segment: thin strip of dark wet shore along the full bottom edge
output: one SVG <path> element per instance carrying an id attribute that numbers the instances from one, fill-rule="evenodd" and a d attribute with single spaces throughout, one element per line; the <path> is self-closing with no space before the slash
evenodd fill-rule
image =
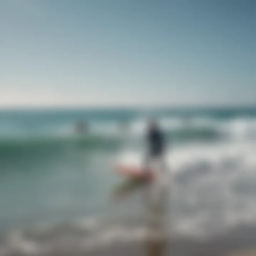
<path id="1" fill-rule="evenodd" d="M 49 251 L 21 251 L 14 249 L 1 256 L 252 256 L 256 255 L 256 225 L 239 225 L 223 235 L 208 239 L 179 237 L 173 239 L 144 238 L 135 241 L 109 242 L 94 248 L 52 247 Z M 28 244 L 29 246 L 29 244 Z M 81 244 L 80 244 L 81 246 Z M 27 247 L 28 248 L 28 247 Z"/>

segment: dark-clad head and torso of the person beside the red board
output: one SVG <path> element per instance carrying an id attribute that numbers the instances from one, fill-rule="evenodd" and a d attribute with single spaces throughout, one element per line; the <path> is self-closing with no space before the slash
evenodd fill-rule
<path id="1" fill-rule="evenodd" d="M 164 134 L 155 120 L 149 121 L 146 140 L 148 152 L 146 154 L 145 170 L 148 171 L 154 162 L 158 162 L 162 166 L 165 151 Z"/>

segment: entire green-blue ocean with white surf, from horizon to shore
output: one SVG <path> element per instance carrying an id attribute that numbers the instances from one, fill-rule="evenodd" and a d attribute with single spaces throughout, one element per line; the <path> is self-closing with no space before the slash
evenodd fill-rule
<path id="1" fill-rule="evenodd" d="M 0 255 L 143 239 L 147 190 L 123 195 L 114 164 L 142 164 L 148 117 L 167 141 L 172 237 L 255 224 L 256 107 L 1 110 Z"/>

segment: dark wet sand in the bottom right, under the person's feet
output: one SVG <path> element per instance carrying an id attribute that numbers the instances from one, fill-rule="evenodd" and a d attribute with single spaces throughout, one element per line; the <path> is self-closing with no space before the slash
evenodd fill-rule
<path id="1" fill-rule="evenodd" d="M 239 226 L 222 236 L 200 241 L 176 239 L 116 244 L 87 252 L 89 256 L 256 256 L 256 226 Z"/>

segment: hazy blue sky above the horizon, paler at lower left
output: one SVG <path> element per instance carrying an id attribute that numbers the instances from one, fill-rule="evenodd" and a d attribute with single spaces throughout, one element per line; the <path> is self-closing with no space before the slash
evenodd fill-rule
<path id="1" fill-rule="evenodd" d="M 0 0 L 0 106 L 252 105 L 254 0 Z"/>

